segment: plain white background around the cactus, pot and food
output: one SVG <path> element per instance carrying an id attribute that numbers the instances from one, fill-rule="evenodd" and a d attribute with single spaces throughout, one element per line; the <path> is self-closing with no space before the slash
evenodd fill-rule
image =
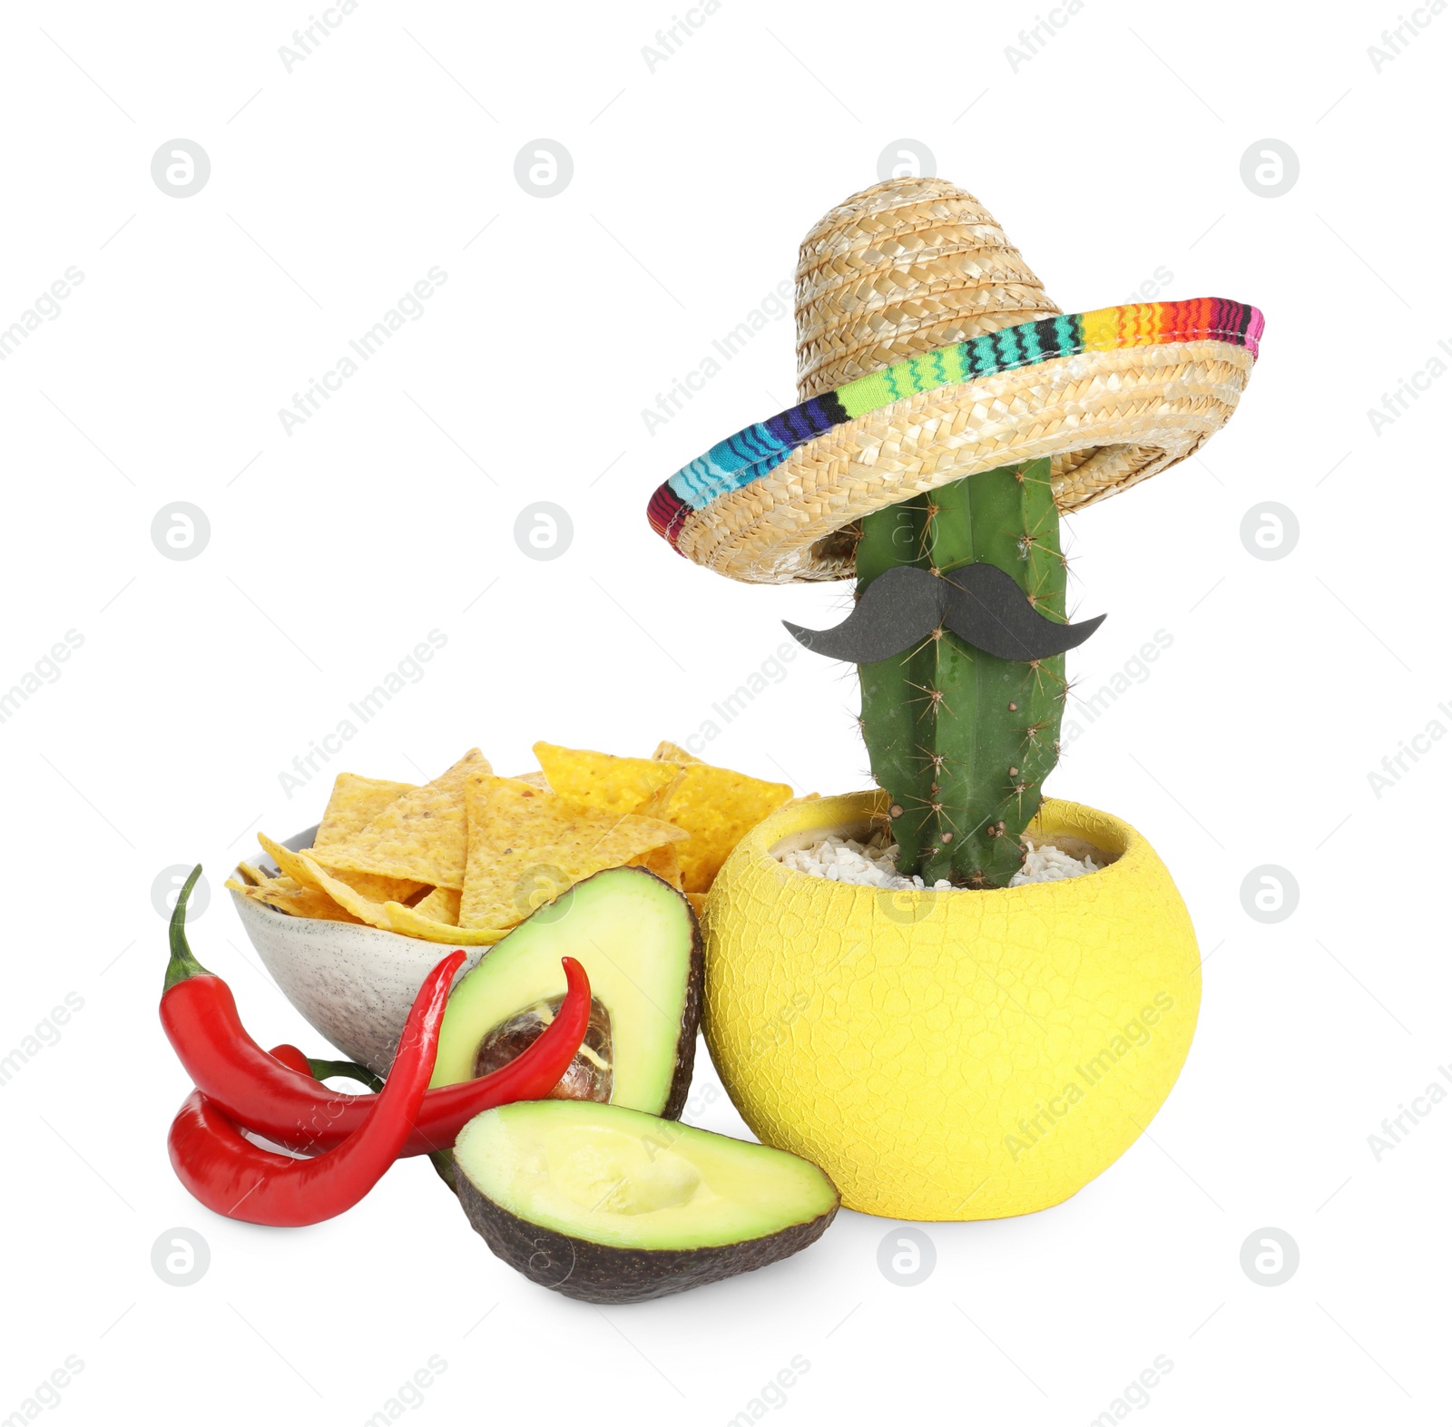
<path id="1" fill-rule="evenodd" d="M 0 1052 L 32 1048 L 0 1086 L 0 1418 L 76 1354 L 46 1420 L 363 1423 L 439 1354 L 408 1420 L 719 1424 L 800 1354 L 772 1420 L 1077 1424 L 1166 1354 L 1135 1418 L 1446 1420 L 1452 1105 L 1379 1161 L 1368 1135 L 1452 1063 L 1452 748 L 1379 798 L 1368 772 L 1452 727 L 1452 382 L 1379 434 L 1366 411 L 1452 341 L 1452 19 L 1416 12 L 1378 71 L 1391 4 L 1054 16 L 1015 70 L 1031 6 L 725 0 L 652 70 L 666 4 L 364 0 L 289 73 L 302 4 L 6 7 L 0 324 L 67 267 L 84 282 L 0 363 L 0 687 L 84 642 L 0 724 Z M 321 1052 L 221 883 L 256 829 L 314 822 L 344 765 L 418 781 L 478 743 L 514 772 L 537 737 L 648 753 L 714 719 L 713 761 L 864 785 L 826 661 L 711 711 L 781 618 L 828 623 L 847 586 L 723 581 L 643 517 L 677 466 L 791 402 L 790 315 L 653 434 L 642 409 L 903 136 L 1066 311 L 1165 269 L 1162 296 L 1266 314 L 1204 459 L 1067 523 L 1079 611 L 1109 613 L 1079 692 L 1172 636 L 1079 719 L 1050 785 L 1138 826 L 1199 932 L 1199 1034 L 1150 1132 L 1061 1208 L 929 1227 L 915 1288 L 877 1267 L 893 1225 L 844 1212 L 786 1264 L 595 1309 L 492 1259 L 418 1160 L 318 1228 L 209 1215 L 164 1148 L 187 1090 L 155 1018 L 164 868 L 206 864 L 193 944 L 248 1026 Z M 1268 136 L 1300 160 L 1275 199 L 1240 171 Z M 173 138 L 211 160 L 186 199 L 151 177 Z M 514 177 L 539 138 L 574 160 L 549 199 Z M 434 266 L 423 315 L 287 434 L 277 409 Z M 150 534 L 177 501 L 211 523 L 184 562 Z M 571 515 L 559 559 L 514 541 L 534 501 Z M 1265 501 L 1300 524 L 1279 560 L 1240 539 Z M 289 796 L 279 774 L 430 630 L 424 678 Z M 1265 864 L 1300 887 L 1276 925 L 1241 906 Z M 67 993 L 58 1039 L 26 1042 Z M 709 1063 L 691 1118 L 743 1132 Z M 189 1288 L 151 1269 L 176 1227 L 211 1246 Z M 1240 1267 L 1262 1227 L 1300 1246 L 1279 1288 Z"/>

